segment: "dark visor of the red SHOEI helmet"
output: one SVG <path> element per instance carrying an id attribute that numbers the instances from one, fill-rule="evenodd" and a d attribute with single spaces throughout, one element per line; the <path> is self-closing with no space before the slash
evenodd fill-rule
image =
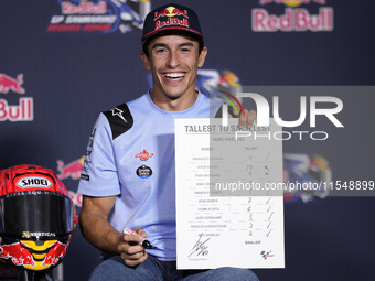
<path id="1" fill-rule="evenodd" d="M 22 238 L 63 237 L 74 228 L 67 196 L 49 191 L 11 193 L 0 197 L 0 233 Z"/>

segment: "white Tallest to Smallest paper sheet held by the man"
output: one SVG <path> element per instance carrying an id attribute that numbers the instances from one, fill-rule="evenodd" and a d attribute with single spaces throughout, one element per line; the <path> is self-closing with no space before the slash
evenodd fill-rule
<path id="1" fill-rule="evenodd" d="M 237 122 L 175 120 L 178 269 L 285 267 L 281 129 Z"/>

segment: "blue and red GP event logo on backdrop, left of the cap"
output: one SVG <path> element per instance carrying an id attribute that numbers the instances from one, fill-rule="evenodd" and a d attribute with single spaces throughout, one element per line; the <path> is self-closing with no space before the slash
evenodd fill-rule
<path id="1" fill-rule="evenodd" d="M 100 32 L 122 34 L 142 29 L 151 10 L 150 0 L 57 0 L 47 32 Z"/>

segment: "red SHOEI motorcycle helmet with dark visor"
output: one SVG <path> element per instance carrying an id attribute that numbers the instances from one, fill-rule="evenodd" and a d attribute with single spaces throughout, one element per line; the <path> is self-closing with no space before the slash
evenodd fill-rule
<path id="1" fill-rule="evenodd" d="M 0 259 L 45 270 L 65 257 L 77 216 L 62 181 L 38 165 L 0 171 Z"/>

